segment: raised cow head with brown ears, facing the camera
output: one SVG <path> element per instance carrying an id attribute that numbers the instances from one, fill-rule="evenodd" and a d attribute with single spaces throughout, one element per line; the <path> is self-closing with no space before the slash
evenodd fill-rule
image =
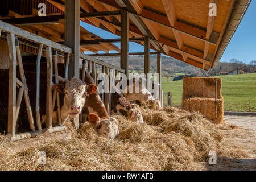
<path id="1" fill-rule="evenodd" d="M 63 107 L 69 117 L 75 118 L 84 107 L 85 97 L 95 93 L 98 88 L 94 84 L 86 85 L 78 78 L 71 78 L 70 81 L 64 78 L 60 83 L 55 84 L 53 89 L 65 94 Z"/>

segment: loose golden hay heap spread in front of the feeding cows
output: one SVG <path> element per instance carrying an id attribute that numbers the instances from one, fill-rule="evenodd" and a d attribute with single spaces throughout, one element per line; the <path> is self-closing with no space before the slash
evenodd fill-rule
<path id="1" fill-rule="evenodd" d="M 0 169 L 8 170 L 192 170 L 205 169 L 208 152 L 221 153 L 221 133 L 199 113 L 174 107 L 141 109 L 144 124 L 121 116 L 111 141 L 84 123 L 72 140 L 39 143 L 14 154 L 0 136 Z M 46 165 L 38 164 L 45 151 Z"/>

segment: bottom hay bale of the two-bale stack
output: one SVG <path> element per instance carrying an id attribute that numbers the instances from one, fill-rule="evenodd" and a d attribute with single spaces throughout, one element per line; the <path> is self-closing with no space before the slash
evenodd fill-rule
<path id="1" fill-rule="evenodd" d="M 224 100 L 219 98 L 216 100 L 217 104 L 217 118 L 216 118 L 216 105 L 214 98 L 187 98 L 182 101 L 182 109 L 189 112 L 198 111 L 205 118 L 214 123 L 221 123 L 224 114 Z"/>

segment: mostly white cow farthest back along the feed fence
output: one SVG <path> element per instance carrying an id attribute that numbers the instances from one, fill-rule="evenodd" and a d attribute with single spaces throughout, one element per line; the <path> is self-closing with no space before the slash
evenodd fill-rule
<path id="1" fill-rule="evenodd" d="M 156 100 L 145 86 L 142 86 L 141 81 L 139 81 L 139 88 L 136 88 L 135 81 L 133 81 L 133 93 L 129 93 L 128 85 L 129 81 L 127 81 L 126 93 L 122 93 L 128 101 L 144 101 L 147 102 L 148 106 L 161 109 L 160 101 Z M 137 89 L 139 89 L 139 93 L 135 93 Z"/>

